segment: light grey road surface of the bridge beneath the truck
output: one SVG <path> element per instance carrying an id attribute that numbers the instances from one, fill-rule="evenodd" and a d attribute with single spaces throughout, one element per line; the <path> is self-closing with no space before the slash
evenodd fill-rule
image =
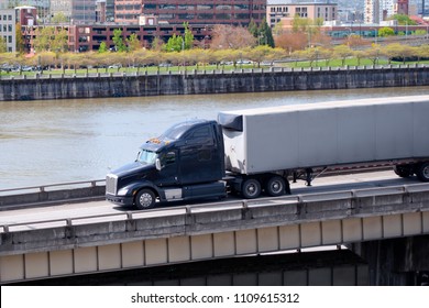
<path id="1" fill-rule="evenodd" d="M 293 195 L 310 195 L 310 194 L 321 194 L 321 193 L 332 193 L 332 191 L 344 191 L 352 189 L 366 189 L 366 188 L 382 188 L 382 187 L 393 187 L 393 186 L 403 186 L 403 185 L 414 185 L 419 184 L 416 178 L 399 178 L 394 174 L 393 170 L 381 170 L 381 172 L 367 172 L 359 174 L 349 174 L 349 175 L 336 175 L 336 176 L 326 176 L 319 177 L 312 182 L 312 186 L 306 186 L 305 182 L 298 180 L 297 183 L 292 183 Z M 228 200 L 237 200 L 237 197 L 229 197 Z M 260 198 L 261 201 L 264 198 Z M 258 199 L 258 200 L 260 200 Z M 212 200 L 206 202 L 198 202 L 199 210 L 201 210 L 201 205 L 207 205 L 210 207 Z M 254 204 L 254 202 L 252 202 Z M 54 220 L 67 220 L 67 219 L 81 219 L 81 223 L 96 220 L 102 221 L 109 220 L 123 220 L 127 217 L 128 211 L 132 211 L 133 216 L 138 213 L 140 218 L 150 218 L 150 217 L 162 217 L 162 216 L 172 216 L 177 213 L 183 213 L 186 211 L 186 207 L 190 205 L 189 202 L 175 202 L 161 207 L 155 211 L 138 211 L 133 208 L 121 208 L 116 205 L 112 205 L 106 200 L 102 201 L 88 201 L 79 204 L 64 204 L 59 206 L 50 206 L 50 207 L 37 207 L 37 208 L 25 208 L 19 210 L 10 211 L 0 211 L 0 226 L 10 226 L 10 224 L 25 224 L 37 221 L 54 221 Z M 197 205 L 194 202 L 191 205 Z M 217 207 L 220 207 L 218 204 Z M 103 216 L 103 218 L 100 218 Z M 59 222 L 58 222 L 59 223 Z M 64 222 L 63 222 L 64 223 Z M 38 226 L 42 227 L 42 226 Z"/>

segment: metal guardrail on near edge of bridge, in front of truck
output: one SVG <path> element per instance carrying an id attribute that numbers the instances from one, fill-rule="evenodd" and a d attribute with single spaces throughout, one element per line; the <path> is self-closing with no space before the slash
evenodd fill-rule
<path id="1" fill-rule="evenodd" d="M 153 217 L 167 216 L 193 216 L 201 213 L 213 213 L 231 210 L 246 210 L 267 207 L 278 207 L 287 205 L 304 205 L 311 202 L 323 202 L 329 200 L 354 200 L 358 198 L 381 197 L 381 196 L 396 196 L 409 195 L 416 193 L 429 193 L 429 184 L 413 184 L 403 186 L 381 187 L 381 188 L 365 188 L 352 189 L 346 191 L 329 191 L 316 193 L 308 195 L 283 196 L 275 198 L 263 198 L 252 200 L 233 200 L 224 202 L 213 202 L 205 205 L 188 205 L 172 208 L 157 208 L 144 211 L 125 211 L 118 213 L 105 213 L 95 216 L 84 216 L 77 218 L 62 218 L 43 221 L 28 221 L 16 222 L 0 226 L 0 233 L 29 231 L 35 229 L 50 229 L 58 227 L 75 227 L 82 224 L 94 224 L 97 222 L 112 222 L 112 221 L 133 221 L 140 219 L 150 219 Z M 114 219 L 112 219 L 114 218 Z"/>

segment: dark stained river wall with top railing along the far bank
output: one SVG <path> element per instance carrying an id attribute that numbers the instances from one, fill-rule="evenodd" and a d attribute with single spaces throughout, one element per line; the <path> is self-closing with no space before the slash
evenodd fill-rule
<path id="1" fill-rule="evenodd" d="M 36 75 L 2 78 L 0 100 L 429 86 L 428 65 Z"/>

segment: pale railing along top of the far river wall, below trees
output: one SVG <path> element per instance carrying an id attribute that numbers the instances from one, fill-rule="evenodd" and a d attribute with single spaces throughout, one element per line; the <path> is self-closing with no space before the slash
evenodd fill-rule
<path id="1" fill-rule="evenodd" d="M 322 61 L 322 59 L 320 59 Z M 193 70 L 153 70 L 153 72 L 119 72 L 119 73 L 88 73 L 88 74 L 44 74 L 0 76 L 0 80 L 36 80 L 36 79 L 72 79 L 72 78 L 100 78 L 100 77 L 139 77 L 139 76 L 165 76 L 165 75 L 221 75 L 221 74 L 264 74 L 264 73 L 296 73 L 296 72 L 330 72 L 350 69 L 404 69 L 426 68 L 426 64 L 405 65 L 371 65 L 371 66 L 343 66 L 343 67 L 261 67 L 261 68 L 238 68 L 233 69 L 193 69 Z"/>

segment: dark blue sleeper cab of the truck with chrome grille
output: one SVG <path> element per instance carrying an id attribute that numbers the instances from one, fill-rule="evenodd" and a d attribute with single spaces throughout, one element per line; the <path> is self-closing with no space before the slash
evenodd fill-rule
<path id="1" fill-rule="evenodd" d="M 223 155 L 216 121 L 178 123 L 144 143 L 135 162 L 107 175 L 106 198 L 139 209 L 162 201 L 223 198 Z"/>

